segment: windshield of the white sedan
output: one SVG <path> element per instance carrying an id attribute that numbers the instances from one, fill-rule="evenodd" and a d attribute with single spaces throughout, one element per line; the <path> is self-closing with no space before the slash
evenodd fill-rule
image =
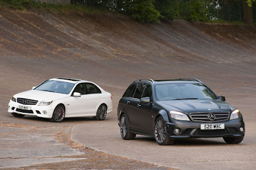
<path id="1" fill-rule="evenodd" d="M 74 85 L 74 83 L 68 83 L 64 81 L 47 80 L 38 87 L 36 87 L 34 90 L 69 94 Z"/>

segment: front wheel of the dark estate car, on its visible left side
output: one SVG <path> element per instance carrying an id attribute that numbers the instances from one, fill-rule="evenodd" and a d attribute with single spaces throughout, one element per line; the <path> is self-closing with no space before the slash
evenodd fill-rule
<path id="1" fill-rule="evenodd" d="M 156 142 L 159 145 L 173 145 L 175 143 L 175 140 L 171 139 L 168 136 L 166 124 L 164 122 L 163 117 L 157 118 L 154 134 L 155 134 L 154 136 L 155 136 Z"/>

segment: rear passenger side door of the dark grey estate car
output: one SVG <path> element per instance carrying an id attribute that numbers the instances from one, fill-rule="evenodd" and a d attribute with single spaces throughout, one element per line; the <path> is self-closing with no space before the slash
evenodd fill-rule
<path id="1" fill-rule="evenodd" d="M 142 129 L 141 127 L 141 117 L 138 114 L 140 112 L 140 99 L 143 93 L 145 85 L 142 83 L 136 86 L 134 94 L 132 97 L 129 97 L 126 101 L 126 112 L 129 117 L 130 127 L 132 129 Z"/>

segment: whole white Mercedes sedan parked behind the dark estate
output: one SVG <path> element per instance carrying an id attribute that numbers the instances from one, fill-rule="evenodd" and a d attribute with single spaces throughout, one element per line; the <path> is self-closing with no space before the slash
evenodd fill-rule
<path id="1" fill-rule="evenodd" d="M 61 122 L 67 117 L 104 120 L 112 111 L 111 94 L 84 80 L 52 78 L 26 92 L 15 94 L 8 112 L 15 117 L 34 115 Z"/>

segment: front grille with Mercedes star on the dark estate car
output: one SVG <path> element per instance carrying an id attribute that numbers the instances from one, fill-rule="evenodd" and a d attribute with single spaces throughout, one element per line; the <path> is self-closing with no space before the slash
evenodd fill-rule
<path id="1" fill-rule="evenodd" d="M 228 120 L 229 113 L 190 113 L 190 118 L 195 122 L 221 122 Z"/>

